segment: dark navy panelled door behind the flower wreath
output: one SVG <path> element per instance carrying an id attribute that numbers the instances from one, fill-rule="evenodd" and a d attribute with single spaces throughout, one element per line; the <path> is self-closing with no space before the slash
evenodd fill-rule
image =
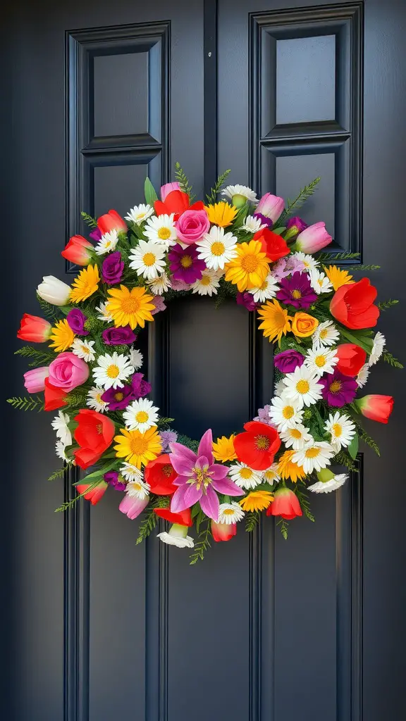
<path id="1" fill-rule="evenodd" d="M 380 263 L 382 297 L 405 303 L 402 0 L 14 0 L 3 30 L 4 358 L 41 275 L 72 282 L 60 251 L 79 211 L 124 214 L 176 160 L 196 195 L 217 169 L 291 198 L 321 176 L 306 220 Z M 382 319 L 400 358 L 403 312 Z M 158 317 L 145 372 L 178 430 L 228 433 L 269 400 L 269 344 L 248 315 L 188 299 Z M 23 370 L 7 364 L 7 394 Z M 405 717 L 401 374 L 380 365 L 382 388 L 397 405 L 373 428 L 381 460 L 360 455 L 316 497 L 315 524 L 284 541 L 264 519 L 193 567 L 153 536 L 136 547 L 113 494 L 54 514 L 69 487 L 46 481 L 49 419 L 6 409 L 1 719 Z"/>

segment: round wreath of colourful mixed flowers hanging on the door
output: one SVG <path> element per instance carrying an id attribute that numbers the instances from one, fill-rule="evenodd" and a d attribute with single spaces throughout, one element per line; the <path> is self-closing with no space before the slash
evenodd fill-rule
<path id="1" fill-rule="evenodd" d="M 137 543 L 163 518 L 161 541 L 194 548 L 202 559 L 211 537 L 228 541 L 246 519 L 252 531 L 259 513 L 279 517 L 283 536 L 303 513 L 314 520 L 308 493 L 337 490 L 356 471 L 358 439 L 379 448 L 360 415 L 387 423 L 393 399 L 358 397 L 379 358 L 401 363 L 374 332 L 380 311 L 368 278 L 323 265 L 357 254 L 321 253 L 332 240 L 325 224 L 311 226 L 293 211 L 314 192 L 316 179 L 293 201 L 217 180 L 207 203 L 193 202 L 187 178 L 176 164 L 176 182 L 163 185 L 160 200 L 150 180 L 145 203 L 125 219 L 108 211 L 96 221 L 86 213 L 90 239 L 75 235 L 62 256 L 84 266 L 72 286 L 46 276 L 37 297 L 47 319 L 25 314 L 17 337 L 48 343 L 25 345 L 32 358 L 25 373 L 26 397 L 9 399 L 22 410 L 59 410 L 52 421 L 56 454 L 64 466 L 87 474 L 77 495 L 98 503 L 105 491 L 120 492 L 119 510 L 144 514 Z M 218 200 L 218 195 L 221 199 Z M 173 430 L 147 399 L 139 329 L 153 322 L 165 301 L 179 294 L 232 296 L 259 317 L 275 344 L 275 395 L 241 433 L 200 441 Z M 43 392 L 43 397 L 37 395 Z M 34 395 L 33 395 L 34 394 Z M 58 469 L 51 478 L 60 477 Z M 197 539 L 189 536 L 196 526 Z"/>

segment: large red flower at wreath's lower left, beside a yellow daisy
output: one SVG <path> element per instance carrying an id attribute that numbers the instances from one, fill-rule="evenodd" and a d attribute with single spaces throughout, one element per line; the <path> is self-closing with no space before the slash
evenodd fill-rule
<path id="1" fill-rule="evenodd" d="M 88 468 L 98 461 L 113 441 L 114 423 L 95 410 L 82 409 L 74 417 L 78 425 L 74 431 L 74 439 L 80 448 L 74 451 L 77 465 Z"/>

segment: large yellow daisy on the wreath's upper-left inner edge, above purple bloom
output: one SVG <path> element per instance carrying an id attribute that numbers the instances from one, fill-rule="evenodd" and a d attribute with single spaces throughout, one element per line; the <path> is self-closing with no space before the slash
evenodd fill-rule
<path id="1" fill-rule="evenodd" d="M 111 288 L 106 310 L 113 318 L 116 327 L 130 325 L 134 330 L 137 325 L 144 327 L 145 321 L 152 321 L 151 311 L 155 308 L 145 288 Z"/>

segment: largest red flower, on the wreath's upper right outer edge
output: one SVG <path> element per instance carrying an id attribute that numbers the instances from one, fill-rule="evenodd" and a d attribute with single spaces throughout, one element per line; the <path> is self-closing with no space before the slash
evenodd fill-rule
<path id="1" fill-rule="evenodd" d="M 379 318 L 379 308 L 373 305 L 377 295 L 368 278 L 357 283 L 341 286 L 335 291 L 330 303 L 330 311 L 347 328 L 372 328 Z"/>

